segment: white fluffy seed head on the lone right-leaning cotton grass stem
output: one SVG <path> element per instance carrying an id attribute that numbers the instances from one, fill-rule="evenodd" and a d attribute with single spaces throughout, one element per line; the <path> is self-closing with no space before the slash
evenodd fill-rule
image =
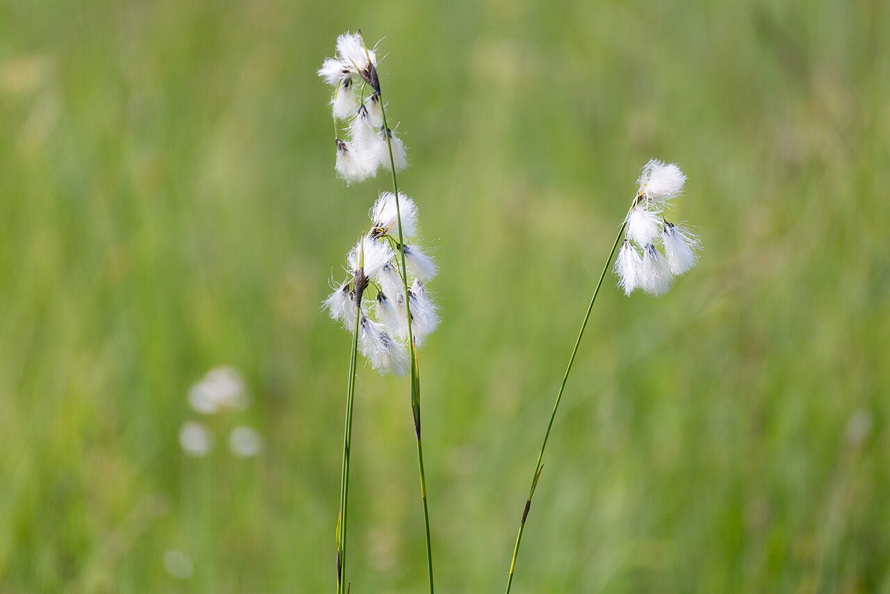
<path id="1" fill-rule="evenodd" d="M 688 227 L 669 223 L 662 212 L 680 195 L 685 182 L 686 176 L 674 163 L 651 159 L 643 167 L 625 219 L 625 240 L 615 261 L 619 287 L 625 295 L 637 287 L 650 295 L 661 295 L 670 289 L 673 275 L 687 272 L 698 262 L 699 238 Z M 663 255 L 656 242 L 664 248 Z"/>

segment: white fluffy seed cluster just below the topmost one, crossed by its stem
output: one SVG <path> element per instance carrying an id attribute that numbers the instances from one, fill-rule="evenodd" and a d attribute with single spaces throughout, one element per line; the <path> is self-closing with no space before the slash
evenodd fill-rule
<path id="1" fill-rule="evenodd" d="M 414 239 L 418 228 L 417 205 L 401 192 L 398 200 L 402 239 Z M 334 287 L 324 306 L 331 318 L 344 323 L 350 331 L 355 328 L 358 308 L 361 354 L 376 370 L 403 375 L 410 369 L 408 310 L 411 333 L 418 345 L 439 325 L 438 307 L 424 285 L 424 281 L 435 276 L 436 264 L 416 245 L 402 246 L 400 243 L 395 194 L 382 192 L 368 216 L 370 230 L 362 235 L 346 258 L 348 276 Z M 401 275 L 401 249 L 405 251 L 408 264 L 405 271 L 410 285 L 407 305 Z M 366 295 L 369 287 L 376 291 L 368 291 Z"/>

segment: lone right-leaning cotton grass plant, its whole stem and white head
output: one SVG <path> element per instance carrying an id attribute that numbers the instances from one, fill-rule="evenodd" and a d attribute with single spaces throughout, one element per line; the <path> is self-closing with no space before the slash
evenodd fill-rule
<path id="1" fill-rule="evenodd" d="M 683 191 L 686 176 L 676 164 L 665 164 L 659 160 L 651 159 L 643 167 L 640 177 L 637 179 L 637 191 L 627 210 L 627 216 L 621 223 L 618 236 L 612 245 L 609 257 L 603 266 L 603 273 L 596 282 L 594 295 L 590 299 L 578 338 L 572 348 L 569 357 L 569 365 L 562 376 L 559 392 L 556 394 L 553 412 L 547 423 L 544 441 L 538 453 L 538 462 L 535 472 L 531 476 L 529 496 L 525 500 L 522 509 L 522 519 L 519 523 L 519 532 L 516 534 L 516 542 L 513 549 L 513 558 L 510 561 L 510 573 L 507 577 L 506 592 L 509 594 L 513 585 L 516 558 L 519 555 L 519 545 L 522 542 L 522 531 L 525 529 L 526 519 L 531 509 L 531 498 L 538 487 L 541 470 L 544 468 L 544 452 L 547 447 L 547 439 L 554 425 L 556 411 L 562 400 L 562 392 L 569 380 L 575 356 L 578 354 L 578 346 L 587 328 L 587 321 L 594 309 L 596 297 L 599 295 L 603 279 L 609 272 L 612 258 L 621 243 L 619 256 L 614 271 L 619 277 L 619 287 L 624 289 L 625 295 L 630 296 L 635 289 L 643 289 L 650 295 L 661 295 L 670 288 L 671 281 L 677 275 L 683 274 L 698 262 L 700 242 L 692 231 L 683 224 L 673 224 L 664 216 L 664 207 L 673 199 L 676 199 Z M 622 241 L 623 238 L 623 241 Z M 663 249 L 659 250 L 659 247 Z"/>

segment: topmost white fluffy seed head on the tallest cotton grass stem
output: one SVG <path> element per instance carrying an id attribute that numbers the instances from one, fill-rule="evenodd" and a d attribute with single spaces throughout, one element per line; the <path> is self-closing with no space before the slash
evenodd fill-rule
<path id="1" fill-rule="evenodd" d="M 334 87 L 330 103 L 336 128 L 337 175 L 352 183 L 376 175 L 380 167 L 394 165 L 396 171 L 408 167 L 405 145 L 395 130 L 384 125 L 376 52 L 365 46 L 360 32 L 337 37 L 336 56 L 324 61 L 319 76 Z M 338 121 L 346 123 L 344 138 L 340 138 Z"/>

